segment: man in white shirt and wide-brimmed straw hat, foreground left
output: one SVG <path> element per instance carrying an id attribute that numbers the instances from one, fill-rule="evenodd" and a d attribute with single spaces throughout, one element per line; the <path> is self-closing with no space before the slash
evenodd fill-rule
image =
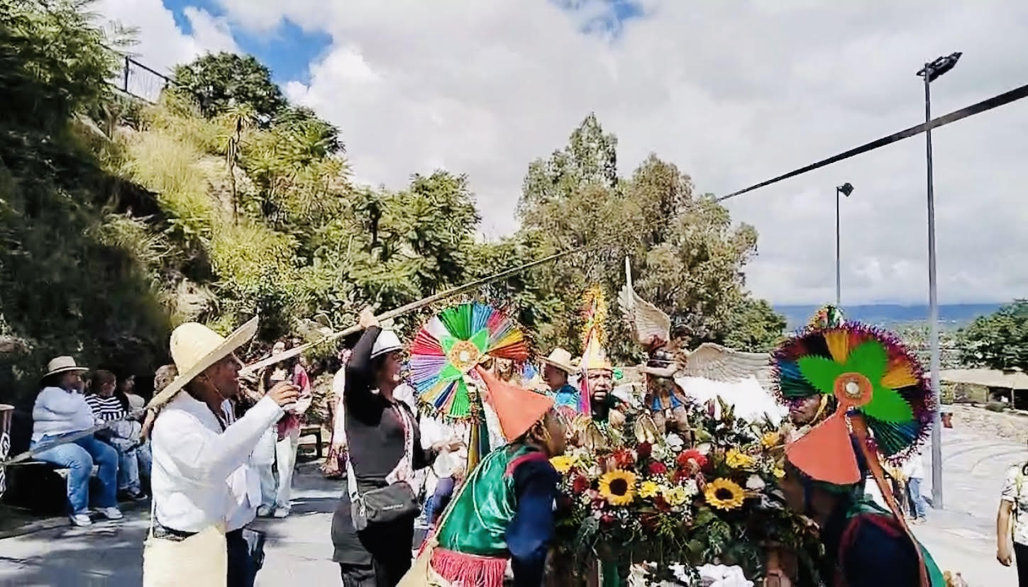
<path id="1" fill-rule="evenodd" d="M 250 454 L 298 394 L 291 382 L 280 382 L 233 418 L 228 399 L 238 393 L 242 366 L 233 352 L 256 331 L 255 318 L 227 337 L 196 323 L 172 333 L 178 375 L 150 402 L 163 407 L 152 433 L 146 586 L 253 585 L 259 553 L 244 529 L 260 505 L 260 481 Z"/>

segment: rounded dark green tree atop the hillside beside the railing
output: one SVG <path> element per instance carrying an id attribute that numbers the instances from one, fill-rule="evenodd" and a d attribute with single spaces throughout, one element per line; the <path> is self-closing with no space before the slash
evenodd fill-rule
<path id="1" fill-rule="evenodd" d="M 172 91 L 195 100 L 209 117 L 246 105 L 268 124 L 287 105 L 271 71 L 253 56 L 208 53 L 176 67 L 174 78 Z"/>

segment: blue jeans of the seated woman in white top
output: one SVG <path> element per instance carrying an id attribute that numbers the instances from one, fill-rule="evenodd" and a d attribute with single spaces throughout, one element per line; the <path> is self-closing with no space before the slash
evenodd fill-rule
<path id="1" fill-rule="evenodd" d="M 60 437 L 44 436 L 32 445 L 36 446 Z M 100 478 L 101 485 L 100 494 L 94 496 L 97 507 L 111 508 L 118 505 L 118 451 L 106 442 L 87 436 L 44 450 L 37 454 L 36 458 L 69 470 L 68 504 L 73 514 L 84 514 L 89 509 L 89 477 L 94 465 L 99 467 L 97 477 Z"/>

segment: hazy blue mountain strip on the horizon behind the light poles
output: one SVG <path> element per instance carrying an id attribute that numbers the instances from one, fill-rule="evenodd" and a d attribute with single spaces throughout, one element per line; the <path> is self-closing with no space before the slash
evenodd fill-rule
<path id="1" fill-rule="evenodd" d="M 939 306 L 939 320 L 948 328 L 960 328 L 980 316 L 999 309 L 999 303 L 948 303 Z M 788 322 L 787 329 L 795 330 L 807 324 L 817 311 L 818 305 L 775 305 L 775 310 L 783 314 Z M 927 322 L 928 306 L 874 303 L 843 306 L 843 314 L 849 320 L 856 320 L 875 326 L 890 328 L 897 324 Z"/>

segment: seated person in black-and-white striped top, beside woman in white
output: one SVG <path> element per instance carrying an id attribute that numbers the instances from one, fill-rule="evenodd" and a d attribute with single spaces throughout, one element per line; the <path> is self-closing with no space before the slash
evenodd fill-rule
<path id="1" fill-rule="evenodd" d="M 150 446 L 140 439 L 142 425 L 134 419 L 125 419 L 131 411 L 128 398 L 116 394 L 117 379 L 114 373 L 98 369 L 89 381 L 89 394 L 85 403 L 89 404 L 93 415 L 100 421 L 116 420 L 110 428 L 97 436 L 118 451 L 118 499 L 142 501 L 146 499 L 140 476 L 150 477 Z"/>

